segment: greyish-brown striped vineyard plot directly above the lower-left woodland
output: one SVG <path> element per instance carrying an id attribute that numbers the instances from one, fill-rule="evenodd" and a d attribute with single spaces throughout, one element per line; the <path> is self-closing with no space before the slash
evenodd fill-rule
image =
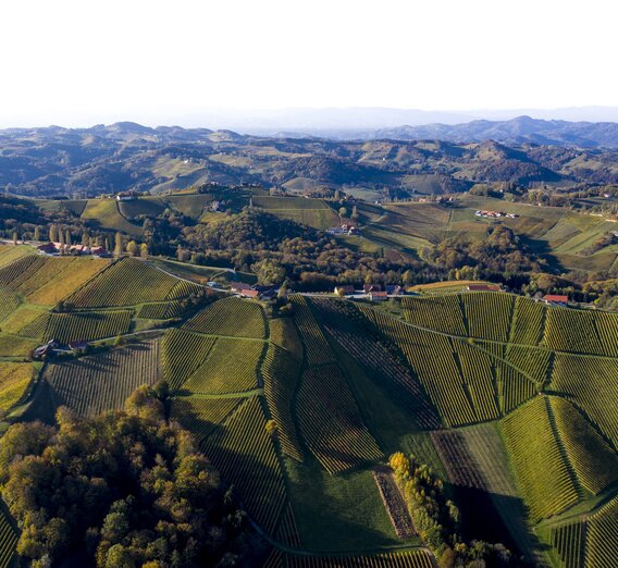
<path id="1" fill-rule="evenodd" d="M 159 379 L 159 343 L 131 345 L 71 362 L 50 365 L 46 379 L 57 406 L 67 406 L 83 416 L 121 409 L 138 386 Z"/>

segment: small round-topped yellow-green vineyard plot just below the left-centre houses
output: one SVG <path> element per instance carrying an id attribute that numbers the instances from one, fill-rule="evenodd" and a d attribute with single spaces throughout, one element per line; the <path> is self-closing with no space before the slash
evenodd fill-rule
<path id="1" fill-rule="evenodd" d="M 265 338 L 268 334 L 267 323 L 259 304 L 239 298 L 225 298 L 215 301 L 189 320 L 185 328 L 211 335 L 258 339 Z"/>

